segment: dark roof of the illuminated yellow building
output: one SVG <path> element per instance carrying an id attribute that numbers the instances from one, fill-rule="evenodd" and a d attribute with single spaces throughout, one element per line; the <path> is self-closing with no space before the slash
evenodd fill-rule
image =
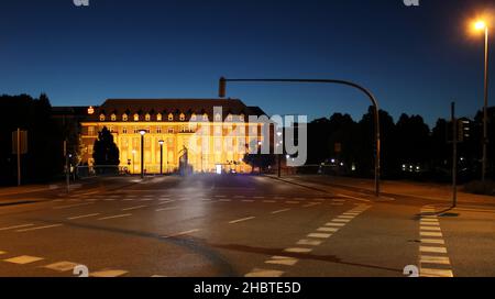
<path id="1" fill-rule="evenodd" d="M 110 117 L 116 114 L 120 120 L 123 114 L 132 117 L 138 113 L 140 119 L 145 114 L 163 114 L 164 120 L 169 113 L 174 118 L 184 113 L 190 117 L 193 113 L 213 115 L 213 108 L 222 108 L 222 117 L 234 115 L 262 115 L 263 110 L 258 107 L 248 107 L 239 99 L 108 99 L 96 108 L 94 115 L 89 119 L 98 120 L 101 114 Z"/>

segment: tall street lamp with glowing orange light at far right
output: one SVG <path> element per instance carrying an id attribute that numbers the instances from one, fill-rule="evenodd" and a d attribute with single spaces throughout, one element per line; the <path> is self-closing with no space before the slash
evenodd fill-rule
<path id="1" fill-rule="evenodd" d="M 482 181 L 486 177 L 487 143 L 488 143 L 488 24 L 479 20 L 474 23 L 474 30 L 485 32 L 485 77 L 484 77 L 484 106 L 483 106 L 483 159 L 482 159 Z"/>

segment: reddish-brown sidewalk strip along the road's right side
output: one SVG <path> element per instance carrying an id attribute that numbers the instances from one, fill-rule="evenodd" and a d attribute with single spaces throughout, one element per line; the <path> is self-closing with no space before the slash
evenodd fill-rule
<path id="1" fill-rule="evenodd" d="M 277 178 L 276 176 L 271 176 Z M 283 180 L 298 184 L 310 184 L 315 186 L 327 187 L 344 187 L 352 188 L 359 192 L 365 192 L 370 196 L 374 195 L 374 180 L 361 178 L 330 177 L 330 176 L 283 176 Z M 381 182 L 381 192 L 386 197 L 405 196 L 428 200 L 451 201 L 452 187 L 440 184 L 424 184 L 415 181 L 391 181 Z M 459 203 L 495 203 L 495 197 L 466 193 L 462 191 L 462 187 L 458 188 Z"/>

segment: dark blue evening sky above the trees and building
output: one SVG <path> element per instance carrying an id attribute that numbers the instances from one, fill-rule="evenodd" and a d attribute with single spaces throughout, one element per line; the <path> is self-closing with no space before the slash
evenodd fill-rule
<path id="1" fill-rule="evenodd" d="M 217 97 L 222 75 L 337 78 L 366 86 L 395 119 L 417 113 L 435 123 L 453 99 L 473 117 L 483 102 L 483 37 L 470 36 L 466 21 L 492 2 L 90 0 L 77 8 L 2 0 L 0 93 L 46 92 L 54 106 L 89 106 Z M 235 85 L 229 96 L 311 119 L 360 119 L 369 106 L 339 86 Z"/>

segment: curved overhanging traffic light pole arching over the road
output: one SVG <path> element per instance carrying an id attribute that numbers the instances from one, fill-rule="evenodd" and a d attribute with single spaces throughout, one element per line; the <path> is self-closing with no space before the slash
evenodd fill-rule
<path id="1" fill-rule="evenodd" d="M 333 80 L 333 79 L 227 79 L 224 77 L 220 78 L 219 82 L 219 97 L 226 97 L 227 82 L 292 82 L 292 84 L 337 84 L 350 86 L 364 92 L 372 101 L 375 108 L 375 196 L 380 197 L 380 173 L 381 173 L 381 137 L 380 137 L 380 109 L 378 102 L 376 101 L 373 93 L 366 88 L 345 80 Z"/>

